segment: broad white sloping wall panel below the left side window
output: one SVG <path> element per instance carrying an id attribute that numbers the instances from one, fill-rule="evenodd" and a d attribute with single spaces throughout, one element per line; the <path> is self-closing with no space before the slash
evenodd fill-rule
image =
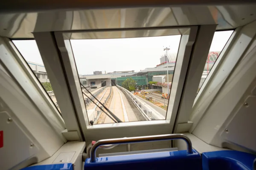
<path id="1" fill-rule="evenodd" d="M 21 169 L 52 156 L 65 142 L 64 122 L 26 61 L 0 37 L 1 169 Z M 25 151 L 24 151 L 25 150 Z"/>

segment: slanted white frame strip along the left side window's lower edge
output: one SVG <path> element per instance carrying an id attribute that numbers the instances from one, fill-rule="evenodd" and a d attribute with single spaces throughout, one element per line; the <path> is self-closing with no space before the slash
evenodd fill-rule
<path id="1" fill-rule="evenodd" d="M 62 131 L 66 128 L 64 120 L 43 86 L 41 86 L 35 73 L 30 69 L 12 40 L 6 37 L 0 37 L 0 40 L 3 49 L 6 50 L 5 55 L 0 55 L 0 63 L 5 66 L 9 75 L 12 76 L 24 94 L 32 101 L 42 118 L 49 122 L 50 127 L 55 131 L 56 138 L 66 142 L 66 138 L 62 135 Z M 26 116 L 35 113 L 27 112 L 27 114 Z"/>

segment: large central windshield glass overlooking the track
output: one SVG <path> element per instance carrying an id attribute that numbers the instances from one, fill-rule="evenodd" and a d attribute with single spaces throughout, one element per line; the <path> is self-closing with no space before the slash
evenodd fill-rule
<path id="1" fill-rule="evenodd" d="M 180 37 L 70 40 L 89 121 L 166 119 Z"/>

